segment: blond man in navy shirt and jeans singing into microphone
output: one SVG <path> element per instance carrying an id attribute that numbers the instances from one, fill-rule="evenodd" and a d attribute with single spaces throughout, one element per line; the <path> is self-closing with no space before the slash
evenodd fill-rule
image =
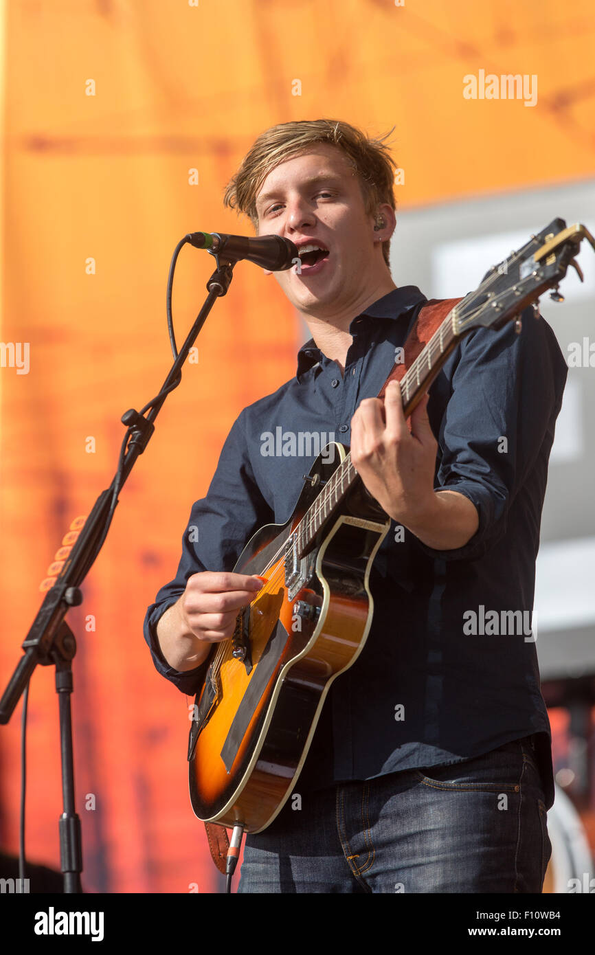
<path id="1" fill-rule="evenodd" d="M 288 519 L 313 461 L 263 454 L 262 435 L 351 445 L 391 518 L 365 647 L 330 687 L 300 800 L 246 837 L 240 892 L 534 893 L 551 851 L 535 635 L 465 622 L 532 611 L 566 365 L 528 308 L 520 335 L 509 323 L 463 337 L 409 422 L 397 384 L 376 397 L 427 301 L 390 270 L 394 168 L 349 123 L 287 122 L 225 192 L 257 234 L 298 246 L 301 269 L 274 276 L 312 337 L 295 375 L 240 414 L 192 506 L 176 577 L 145 619 L 159 672 L 195 693 L 262 585 L 232 568 L 259 527 Z"/>

